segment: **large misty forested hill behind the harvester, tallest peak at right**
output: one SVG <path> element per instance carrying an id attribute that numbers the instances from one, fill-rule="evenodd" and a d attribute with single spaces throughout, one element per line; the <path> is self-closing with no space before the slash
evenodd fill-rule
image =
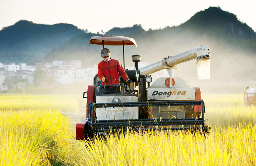
<path id="1" fill-rule="evenodd" d="M 166 20 L 166 24 L 172 23 Z M 41 61 L 79 59 L 83 67 L 98 64 L 102 46 L 89 47 L 90 38 L 98 35 L 100 34 L 84 33 L 75 36 L 52 49 Z M 212 78 L 230 80 L 240 75 L 239 78 L 256 79 L 256 33 L 235 14 L 223 11 L 220 7 L 199 11 L 179 26 L 138 31 L 126 37 L 134 38 L 138 45 L 138 48 L 125 46 L 126 66 L 132 66 L 130 57 L 133 54 L 140 54 L 142 61 L 154 63 L 165 56 L 173 56 L 207 44 L 212 50 Z M 112 58 L 122 60 L 122 47 L 106 47 L 110 49 Z M 186 76 L 197 78 L 194 63 L 193 61 L 178 65 L 177 76 L 184 73 Z"/>

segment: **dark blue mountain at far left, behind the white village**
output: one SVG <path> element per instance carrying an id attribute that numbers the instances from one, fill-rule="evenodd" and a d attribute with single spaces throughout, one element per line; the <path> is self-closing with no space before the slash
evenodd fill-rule
<path id="1" fill-rule="evenodd" d="M 33 61 L 36 57 L 48 53 L 53 47 L 81 33 L 84 33 L 84 30 L 71 24 L 44 25 L 20 20 L 0 31 L 0 61 L 18 63 L 18 59 L 23 59 L 16 56 L 17 54 L 23 54 L 26 57 L 24 61 L 31 58 Z"/>

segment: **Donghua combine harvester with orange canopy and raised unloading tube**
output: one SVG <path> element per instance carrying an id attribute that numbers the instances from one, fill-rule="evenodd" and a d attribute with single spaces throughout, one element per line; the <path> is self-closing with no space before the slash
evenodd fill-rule
<path id="1" fill-rule="evenodd" d="M 123 36 L 92 37 L 91 44 L 123 46 L 137 44 Z M 121 94 L 99 94 L 101 81 L 96 74 L 94 85 L 89 85 L 83 97 L 87 98 L 86 118 L 76 124 L 76 139 L 87 140 L 107 136 L 117 131 L 192 130 L 209 133 L 204 121 L 205 107 L 200 88 L 192 88 L 179 77 L 172 77 L 177 64 L 196 59 L 198 79 L 210 78 L 210 52 L 203 45 L 184 53 L 165 57 L 162 61 L 138 69 L 140 55 L 132 55 L 135 70 L 125 70 L 132 86 L 121 79 Z M 124 64 L 123 64 L 124 65 Z M 167 69 L 170 77 L 152 82 L 150 74 Z M 151 83 L 151 85 L 150 85 Z M 108 86 L 108 85 L 107 85 Z M 87 97 L 85 97 L 87 93 Z"/>

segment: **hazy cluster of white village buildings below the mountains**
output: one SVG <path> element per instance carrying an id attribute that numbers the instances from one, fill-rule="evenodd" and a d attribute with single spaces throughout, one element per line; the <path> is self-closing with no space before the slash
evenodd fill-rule
<path id="1" fill-rule="evenodd" d="M 150 65 L 148 62 L 140 62 L 139 69 Z M 128 67 L 126 69 L 134 70 L 134 67 Z M 88 68 L 81 68 L 81 61 L 52 61 L 52 63 L 36 63 L 35 65 L 27 65 L 22 62 L 19 65 L 10 63 L 4 65 L 0 63 L 0 86 L 9 85 L 10 80 L 17 78 L 19 80 L 26 79 L 27 84 L 34 84 L 34 72 L 43 71 L 43 75 L 50 80 L 55 82 L 52 83 L 54 86 L 59 84 L 72 84 L 72 83 L 86 83 L 93 84 L 93 78 L 98 72 L 97 65 Z M 160 77 L 169 77 L 166 70 L 161 70 L 153 73 L 152 78 L 155 81 Z M 41 85 L 48 85 L 49 83 L 39 83 Z M 23 83 L 13 84 L 15 87 L 23 88 Z M 4 87 L 3 87 L 4 88 Z M 2 89 L 2 88 L 1 88 Z"/>

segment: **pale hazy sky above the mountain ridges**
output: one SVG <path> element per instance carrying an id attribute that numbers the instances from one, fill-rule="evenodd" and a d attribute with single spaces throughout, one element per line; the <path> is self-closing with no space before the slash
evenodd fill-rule
<path id="1" fill-rule="evenodd" d="M 220 6 L 256 31 L 256 0 L 0 0 L 0 30 L 24 19 L 37 24 L 69 23 L 89 32 L 141 24 L 145 30 L 180 25 L 197 11 Z"/>

